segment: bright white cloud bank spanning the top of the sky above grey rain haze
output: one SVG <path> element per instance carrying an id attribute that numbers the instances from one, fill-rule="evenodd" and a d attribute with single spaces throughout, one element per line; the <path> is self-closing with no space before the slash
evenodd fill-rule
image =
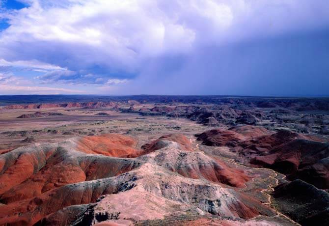
<path id="1" fill-rule="evenodd" d="M 184 53 L 203 41 L 328 25 L 326 0 L 30 0 L 1 43 L 86 45 L 114 58 Z M 244 34 L 244 35 L 242 35 Z M 42 60 L 41 60 L 42 61 Z M 132 62 L 130 62 L 132 64 Z"/>

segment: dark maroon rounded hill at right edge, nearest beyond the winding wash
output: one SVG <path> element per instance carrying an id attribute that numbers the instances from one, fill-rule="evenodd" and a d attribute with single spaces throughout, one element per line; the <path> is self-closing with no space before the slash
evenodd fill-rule
<path id="1" fill-rule="evenodd" d="M 329 189 L 329 143 L 295 139 L 273 148 L 251 163 L 300 178 L 318 188 Z"/>

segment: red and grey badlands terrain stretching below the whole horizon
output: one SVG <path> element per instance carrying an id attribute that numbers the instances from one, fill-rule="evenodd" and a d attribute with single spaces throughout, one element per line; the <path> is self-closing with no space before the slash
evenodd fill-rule
<path id="1" fill-rule="evenodd" d="M 0 225 L 325 226 L 329 99 L 0 96 Z"/>

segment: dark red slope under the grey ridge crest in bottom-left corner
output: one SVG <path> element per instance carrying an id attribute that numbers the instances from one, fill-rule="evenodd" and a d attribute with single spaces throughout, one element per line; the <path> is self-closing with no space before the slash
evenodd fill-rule
<path id="1" fill-rule="evenodd" d="M 102 194 L 118 192 L 118 187 L 110 178 L 86 181 L 65 185 L 34 198 L 1 205 L 0 224 L 32 225 L 66 206 L 93 203 Z"/>

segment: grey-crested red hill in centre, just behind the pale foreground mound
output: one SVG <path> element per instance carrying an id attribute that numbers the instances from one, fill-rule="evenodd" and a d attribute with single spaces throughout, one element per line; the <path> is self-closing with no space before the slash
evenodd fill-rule
<path id="1" fill-rule="evenodd" d="M 165 141 L 173 141 L 168 143 Z M 144 154 L 151 153 L 161 148 L 161 151 L 152 155 L 158 165 L 182 176 L 189 178 L 204 178 L 206 180 L 227 184 L 233 187 L 244 187 L 250 179 L 243 170 L 227 166 L 219 159 L 213 159 L 202 152 L 192 151 L 191 142 L 182 134 L 165 135 L 155 141 L 144 144 Z M 177 148 L 180 151 L 177 151 Z"/>

